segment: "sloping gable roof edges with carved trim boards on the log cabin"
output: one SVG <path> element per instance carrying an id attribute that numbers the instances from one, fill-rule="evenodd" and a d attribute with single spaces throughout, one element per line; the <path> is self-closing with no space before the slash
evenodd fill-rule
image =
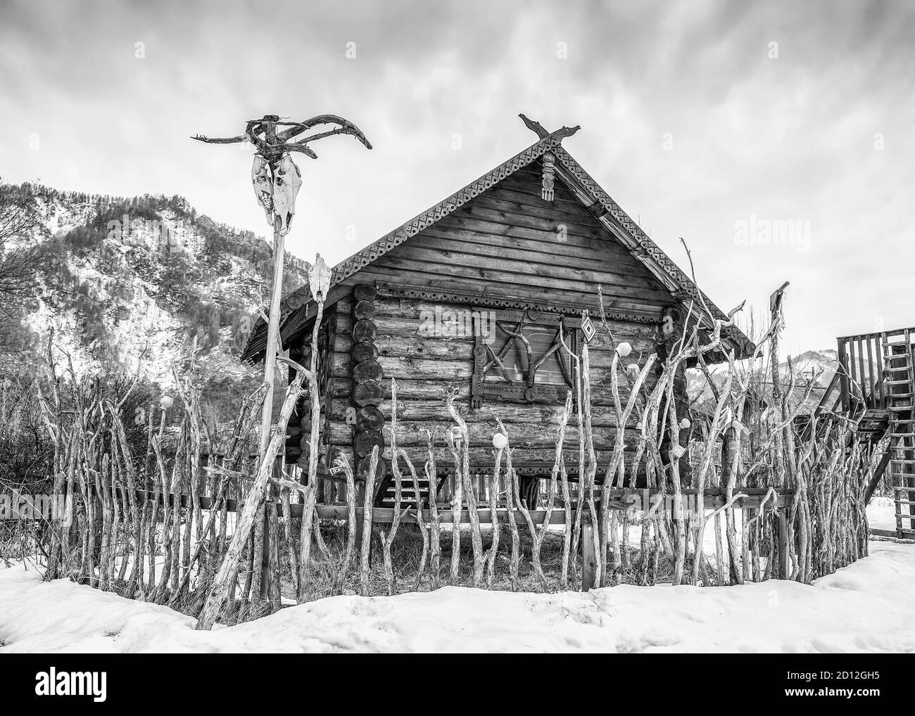
<path id="1" fill-rule="evenodd" d="M 361 251 L 356 251 L 349 258 L 339 262 L 331 272 L 330 295 L 328 295 L 328 298 L 332 299 L 335 286 L 350 278 L 353 274 L 359 273 L 371 262 L 376 261 L 394 247 L 432 226 L 440 219 L 444 219 L 471 199 L 498 184 L 505 177 L 511 176 L 522 167 L 532 164 L 544 153 L 552 152 L 557 159 L 555 174 L 571 190 L 572 194 L 581 201 L 614 238 L 619 240 L 630 251 L 633 257 L 641 262 L 671 292 L 673 298 L 683 305 L 684 309 L 688 309 L 689 304 L 694 302 L 693 314 L 701 314 L 700 291 L 693 280 L 641 230 L 639 225 L 622 208 L 619 208 L 619 205 L 588 175 L 572 155 L 565 151 L 561 143 L 566 135 L 567 131 L 564 127 L 553 134 L 544 136 L 536 144 L 532 144 L 521 153 L 514 155 L 511 159 L 480 176 L 479 179 L 471 182 L 450 197 L 439 201 L 434 207 L 426 209 L 423 213 L 418 214 L 397 229 L 385 234 L 381 239 L 373 241 Z M 708 306 L 716 318 L 727 320 L 727 315 L 720 308 L 705 294 L 701 295 L 705 299 L 705 305 Z M 281 335 L 283 327 L 290 316 L 299 309 L 307 307 L 310 299 L 311 292 L 307 283 L 285 296 L 280 305 Z M 705 323 L 707 324 L 707 320 L 705 320 Z M 266 347 L 266 327 L 264 318 L 258 318 L 242 352 L 242 360 L 256 362 L 262 358 Z M 722 338 L 729 347 L 734 349 L 735 358 L 746 358 L 755 348 L 753 343 L 737 326 L 725 326 L 722 329 Z"/>

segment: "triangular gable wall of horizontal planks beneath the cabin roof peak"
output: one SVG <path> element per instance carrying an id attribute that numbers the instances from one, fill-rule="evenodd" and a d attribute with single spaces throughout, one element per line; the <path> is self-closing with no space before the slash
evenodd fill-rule
<path id="1" fill-rule="evenodd" d="M 539 163 L 366 266 L 350 281 L 402 282 L 522 297 L 660 320 L 671 295 L 557 180 L 540 196 Z"/>

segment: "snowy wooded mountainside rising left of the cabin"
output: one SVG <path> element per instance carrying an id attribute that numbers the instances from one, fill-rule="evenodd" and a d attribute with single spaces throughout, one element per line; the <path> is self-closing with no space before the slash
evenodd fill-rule
<path id="1" fill-rule="evenodd" d="M 180 197 L 31 188 L 44 219 L 31 240 L 46 251 L 18 356 L 43 355 L 53 330 L 78 373 L 117 366 L 167 386 L 196 338 L 205 374 L 251 372 L 237 357 L 270 287 L 263 237 L 198 215 Z M 306 275 L 307 264 L 289 257 L 286 287 Z M 18 360 L 16 369 L 28 369 Z"/>

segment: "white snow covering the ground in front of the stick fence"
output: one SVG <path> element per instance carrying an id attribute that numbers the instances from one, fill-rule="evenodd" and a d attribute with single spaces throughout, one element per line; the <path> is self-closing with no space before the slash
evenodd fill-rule
<path id="1" fill-rule="evenodd" d="M 164 606 L 0 568 L 0 652 L 861 652 L 915 651 L 915 545 L 813 586 L 623 585 L 581 594 L 446 587 L 337 596 L 196 632 Z"/>

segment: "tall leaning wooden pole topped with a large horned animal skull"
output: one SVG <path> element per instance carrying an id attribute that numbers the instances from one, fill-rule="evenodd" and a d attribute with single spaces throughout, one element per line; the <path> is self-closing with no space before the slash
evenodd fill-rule
<path id="1" fill-rule="evenodd" d="M 296 139 L 299 134 L 303 134 L 320 124 L 336 126 L 325 132 L 319 132 L 318 134 L 311 134 L 301 139 Z M 284 129 L 279 129 L 281 127 Z M 275 114 L 265 114 L 264 117 L 259 120 L 250 120 L 245 126 L 244 134 L 239 134 L 238 136 L 210 138 L 197 135 L 192 137 L 192 139 L 207 144 L 238 144 L 250 142 L 254 145 L 256 151 L 254 153 L 254 162 L 251 169 L 254 194 L 257 197 L 258 203 L 264 208 L 267 223 L 269 223 L 274 230 L 274 273 L 270 290 L 269 314 L 267 315 L 267 345 L 264 352 L 264 383 L 267 390 L 264 395 L 264 407 L 261 420 L 261 441 L 259 450 L 261 456 L 261 470 L 259 470 L 259 472 L 264 471 L 264 460 L 268 459 L 268 453 L 271 452 L 269 447 L 273 432 L 274 374 L 276 369 L 276 352 L 279 347 L 280 302 L 283 299 L 285 235 L 289 233 L 292 219 L 296 214 L 296 196 L 302 185 L 302 175 L 298 166 L 292 161 L 292 154 L 299 153 L 312 159 L 317 159 L 318 155 L 315 154 L 308 144 L 334 134 L 350 134 L 358 139 L 366 148 L 371 149 L 369 140 L 362 134 L 359 127 L 334 114 L 319 114 L 304 122 L 285 122 L 280 120 L 279 116 Z M 315 273 L 319 268 L 322 269 L 319 273 L 326 273 L 326 265 L 324 262 L 320 261 L 320 257 L 318 256 L 318 261 L 312 268 L 312 273 Z M 312 276 L 312 278 L 315 277 Z M 311 283 L 315 282 L 312 281 Z M 328 282 L 322 280 L 320 283 Z M 314 296 L 315 300 L 322 305 L 326 297 L 326 289 L 321 291 L 319 295 Z M 315 331 L 317 332 L 317 330 L 318 325 L 316 324 Z M 314 358 L 312 359 L 312 369 L 314 369 Z M 318 410 L 318 406 L 312 407 L 313 410 Z M 288 416 L 286 416 L 286 419 L 288 419 Z M 276 425 L 275 430 L 277 433 L 281 431 L 285 433 L 285 422 L 282 420 L 282 416 L 280 422 L 283 424 Z M 309 470 L 309 473 L 313 472 L 313 470 Z M 264 497 L 263 492 L 264 483 L 260 480 L 255 481 L 251 494 L 245 499 L 246 504 L 259 506 Z M 259 517 L 263 518 L 263 515 L 259 515 Z M 235 545 L 236 541 L 238 541 L 240 546 L 240 540 L 247 540 L 247 533 L 250 529 L 250 523 L 245 526 L 245 529 L 243 530 L 245 533 L 243 535 L 239 534 L 239 529 L 236 529 L 236 534 L 232 536 L 232 544 Z M 303 539 L 309 539 L 309 536 L 303 534 Z M 230 559 L 230 555 L 234 555 L 234 559 L 237 560 L 239 551 L 240 550 L 229 550 L 226 559 L 228 560 Z M 257 555 L 255 555 L 255 557 L 257 557 Z M 226 566 L 231 568 L 234 565 L 223 565 L 223 567 Z M 221 573 L 223 572 L 231 573 L 232 570 L 221 570 Z M 269 565 L 266 565 L 264 570 L 264 584 L 268 579 L 267 572 L 269 572 Z M 218 610 L 221 608 L 224 595 L 224 589 L 221 588 L 219 584 L 214 583 L 213 590 L 210 593 L 210 598 L 208 599 L 208 603 L 204 610 L 205 613 L 207 613 L 208 618 L 203 619 L 203 615 L 201 614 L 199 628 L 201 626 L 202 628 L 210 628 L 212 622 L 215 621 L 216 613 L 218 613 Z M 274 596 L 278 597 L 278 595 Z"/>

